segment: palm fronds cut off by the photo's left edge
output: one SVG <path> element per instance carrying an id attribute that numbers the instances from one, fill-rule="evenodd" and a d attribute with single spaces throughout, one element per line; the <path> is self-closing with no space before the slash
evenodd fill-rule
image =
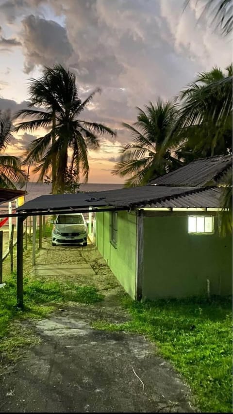
<path id="1" fill-rule="evenodd" d="M 16 184 L 23 186 L 25 183 L 26 173 L 21 169 L 18 157 L 4 154 L 13 138 L 12 130 L 10 112 L 0 111 L 0 187 L 16 189 Z"/>

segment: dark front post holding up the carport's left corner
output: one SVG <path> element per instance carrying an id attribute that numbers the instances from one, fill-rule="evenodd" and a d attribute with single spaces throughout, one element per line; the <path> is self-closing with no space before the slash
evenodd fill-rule
<path id="1" fill-rule="evenodd" d="M 17 305 L 23 309 L 23 217 L 18 217 L 17 228 Z"/>

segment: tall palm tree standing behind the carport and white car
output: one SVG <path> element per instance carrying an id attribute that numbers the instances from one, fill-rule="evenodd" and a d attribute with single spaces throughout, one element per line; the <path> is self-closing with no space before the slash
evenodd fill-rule
<path id="1" fill-rule="evenodd" d="M 16 130 L 30 130 L 42 127 L 49 130 L 44 136 L 32 141 L 27 149 L 24 163 L 37 165 L 34 172 L 40 172 L 38 181 L 43 181 L 52 170 L 53 193 L 64 186 L 63 176 L 70 165 L 88 180 L 88 149 L 98 149 L 98 135 L 116 135 L 110 128 L 96 122 L 80 119 L 81 112 L 100 89 L 96 89 L 83 102 L 79 98 L 75 75 L 61 65 L 45 67 L 42 77 L 32 79 L 29 84 L 30 106 L 36 109 L 18 111 L 16 117 L 33 117 L 22 121 Z M 37 109 L 38 108 L 38 109 Z"/>

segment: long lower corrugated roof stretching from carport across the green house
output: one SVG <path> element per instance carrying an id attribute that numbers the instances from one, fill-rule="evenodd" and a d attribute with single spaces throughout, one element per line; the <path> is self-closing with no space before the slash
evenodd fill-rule
<path id="1" fill-rule="evenodd" d="M 133 209 L 143 207 L 221 208 L 222 189 L 212 187 L 166 187 L 145 185 L 119 190 L 41 196 L 17 209 L 19 213 L 79 211 L 91 207 Z"/>

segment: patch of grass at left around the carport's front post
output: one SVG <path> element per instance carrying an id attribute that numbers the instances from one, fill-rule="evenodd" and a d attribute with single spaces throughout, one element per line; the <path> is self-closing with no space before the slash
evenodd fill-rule
<path id="1" fill-rule="evenodd" d="M 23 347 L 38 341 L 29 327 L 20 324 L 21 320 L 46 317 L 56 305 L 68 301 L 92 304 L 102 300 L 103 296 L 93 286 L 24 278 L 24 312 L 17 309 L 16 298 L 14 273 L 7 279 L 6 286 L 0 289 L 0 354 L 1 358 L 14 360 L 18 358 L 18 351 Z"/>

